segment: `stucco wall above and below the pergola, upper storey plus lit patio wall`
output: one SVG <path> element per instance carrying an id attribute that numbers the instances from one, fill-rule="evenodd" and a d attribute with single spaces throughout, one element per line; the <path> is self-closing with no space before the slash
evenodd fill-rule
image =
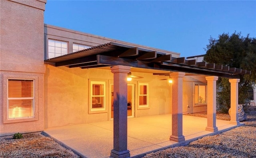
<path id="1" fill-rule="evenodd" d="M 115 39 L 104 38 L 83 32 L 77 32 L 66 28 L 60 28 L 44 24 L 45 53 L 47 57 L 48 39 L 56 39 L 68 42 L 68 52 L 72 53 L 72 44 L 79 43 L 88 46 L 96 46 L 108 42 L 118 42 L 126 45 L 134 45 L 144 49 L 171 53 L 173 57 L 179 57 L 179 53 L 161 49 L 136 45 Z M 145 115 L 159 115 L 170 113 L 171 92 L 167 81 L 162 81 L 163 76 L 152 75 L 152 73 L 132 72 L 133 75 L 142 76 L 142 79 L 134 79 L 132 84 L 138 86 L 138 82 L 150 83 L 150 108 L 136 108 L 135 117 Z M 166 78 L 166 77 L 165 77 Z M 110 120 L 111 106 L 110 97 L 107 96 L 107 112 L 89 114 L 88 93 L 89 80 L 106 80 L 107 85 L 113 83 L 113 74 L 110 69 L 80 69 L 67 67 L 54 67 L 46 64 L 45 75 L 45 128 L 54 126 L 65 126 Z M 137 93 L 137 88 L 135 88 Z M 109 93 L 107 93 L 109 95 Z M 138 98 L 135 98 L 138 99 Z"/>

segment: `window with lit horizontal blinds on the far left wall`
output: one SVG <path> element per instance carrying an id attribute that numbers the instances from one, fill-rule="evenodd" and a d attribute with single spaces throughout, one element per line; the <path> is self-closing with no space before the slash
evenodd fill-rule
<path id="1" fill-rule="evenodd" d="M 8 119 L 34 117 L 34 80 L 8 79 Z"/>

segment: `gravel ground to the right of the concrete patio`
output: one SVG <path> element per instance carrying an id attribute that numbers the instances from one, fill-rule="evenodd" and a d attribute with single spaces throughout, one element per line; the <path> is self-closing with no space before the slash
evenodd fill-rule
<path id="1" fill-rule="evenodd" d="M 146 154 L 143 158 L 256 158 L 256 111 L 254 109 L 247 113 L 247 120 L 243 123 L 245 123 L 244 126 L 227 132 L 205 136 L 184 146 Z"/>

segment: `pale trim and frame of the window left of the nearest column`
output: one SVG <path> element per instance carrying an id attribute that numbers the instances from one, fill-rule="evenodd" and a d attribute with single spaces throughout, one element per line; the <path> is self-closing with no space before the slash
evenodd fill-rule
<path id="1" fill-rule="evenodd" d="M 101 95 L 102 97 L 104 97 L 104 101 L 103 101 L 103 108 L 92 108 L 92 86 L 93 84 L 102 84 L 104 85 L 104 95 Z M 89 79 L 89 99 L 88 99 L 88 113 L 89 114 L 95 114 L 95 113 L 107 113 L 108 112 L 108 108 L 107 108 L 107 92 L 108 92 L 108 86 L 107 86 L 107 80 L 90 80 Z"/>

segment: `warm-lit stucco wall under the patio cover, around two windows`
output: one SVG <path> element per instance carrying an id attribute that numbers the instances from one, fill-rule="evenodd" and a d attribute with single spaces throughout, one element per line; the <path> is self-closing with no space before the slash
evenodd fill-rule
<path id="1" fill-rule="evenodd" d="M 170 113 L 170 85 L 167 80 L 160 80 L 166 77 L 138 72 L 132 72 L 132 75 L 143 77 L 132 80 L 131 83 L 135 84 L 135 93 L 137 93 L 139 81 L 150 83 L 150 108 L 138 110 L 135 107 L 135 116 Z M 111 103 L 108 100 L 111 95 L 110 90 L 108 89 L 106 93 L 107 113 L 89 114 L 88 87 L 89 79 L 105 80 L 109 85 L 113 83 L 113 77 L 114 75 L 109 69 L 80 69 L 46 65 L 44 79 L 45 128 L 110 120 Z M 134 99 L 137 102 L 138 98 Z"/>

